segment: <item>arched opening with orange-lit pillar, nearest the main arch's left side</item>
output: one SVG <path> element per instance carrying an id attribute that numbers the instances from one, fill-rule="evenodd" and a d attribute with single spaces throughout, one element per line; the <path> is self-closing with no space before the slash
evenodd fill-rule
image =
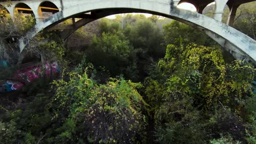
<path id="1" fill-rule="evenodd" d="M 38 14 L 40 19 L 46 19 L 59 11 L 59 8 L 57 8 L 54 3 L 49 1 L 42 2 L 38 8 Z"/>

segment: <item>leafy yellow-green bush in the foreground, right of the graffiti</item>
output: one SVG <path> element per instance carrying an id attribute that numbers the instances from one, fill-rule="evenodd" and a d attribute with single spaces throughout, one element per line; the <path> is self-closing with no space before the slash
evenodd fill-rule
<path id="1" fill-rule="evenodd" d="M 134 142 L 142 139 L 146 122 L 140 111 L 146 104 L 135 90 L 137 84 L 112 79 L 106 85 L 98 86 L 88 79 L 86 73 L 71 73 L 69 76 L 68 82 L 54 82 L 57 87 L 55 118 L 68 117 L 58 130 L 61 132 L 58 137 L 63 141 L 94 143 Z"/>

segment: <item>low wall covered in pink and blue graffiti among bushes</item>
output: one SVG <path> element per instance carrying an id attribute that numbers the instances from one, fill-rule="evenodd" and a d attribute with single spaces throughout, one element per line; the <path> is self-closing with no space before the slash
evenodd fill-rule
<path id="1" fill-rule="evenodd" d="M 45 64 L 34 64 L 29 67 L 24 67 L 9 80 L 0 81 L 0 92 L 15 91 L 26 85 L 26 83 L 33 82 L 42 76 L 50 77 L 60 73 L 60 67 L 57 62 Z"/>

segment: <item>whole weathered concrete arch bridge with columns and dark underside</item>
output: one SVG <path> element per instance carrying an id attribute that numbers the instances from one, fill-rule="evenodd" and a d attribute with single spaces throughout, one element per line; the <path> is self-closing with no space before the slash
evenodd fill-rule
<path id="1" fill-rule="evenodd" d="M 120 13 L 149 13 L 168 17 L 187 25 L 200 29 L 217 41 L 225 50 L 229 51 L 236 59 L 248 58 L 256 63 L 256 41 L 232 28 L 236 9 L 243 3 L 255 0 L 27 0 L 11 1 L 0 0 L 11 17 L 15 13 L 33 14 L 36 25 L 19 39 L 19 49 L 22 52 L 29 43 L 28 38 L 34 37 L 40 31 L 49 29 L 58 23 L 72 18 L 73 25 L 68 31 L 63 31 L 62 37 L 66 39 L 76 29 L 101 17 Z M 177 8 L 178 4 L 191 3 L 197 9 L 197 13 Z M 214 17 L 202 15 L 202 10 L 210 3 L 215 2 Z M 227 23 L 222 23 L 222 14 L 225 5 L 228 5 L 230 14 Z M 50 13 L 50 17 L 44 17 L 43 13 Z M 74 18 L 81 18 L 75 21 Z"/>

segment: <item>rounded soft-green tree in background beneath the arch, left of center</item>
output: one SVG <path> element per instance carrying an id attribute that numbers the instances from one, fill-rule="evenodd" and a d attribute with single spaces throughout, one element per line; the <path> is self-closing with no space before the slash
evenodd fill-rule
<path id="1" fill-rule="evenodd" d="M 102 37 L 94 37 L 86 56 L 96 67 L 104 66 L 112 76 L 125 74 L 130 79 L 137 75 L 135 61 L 136 51 L 121 33 L 102 33 Z"/>

